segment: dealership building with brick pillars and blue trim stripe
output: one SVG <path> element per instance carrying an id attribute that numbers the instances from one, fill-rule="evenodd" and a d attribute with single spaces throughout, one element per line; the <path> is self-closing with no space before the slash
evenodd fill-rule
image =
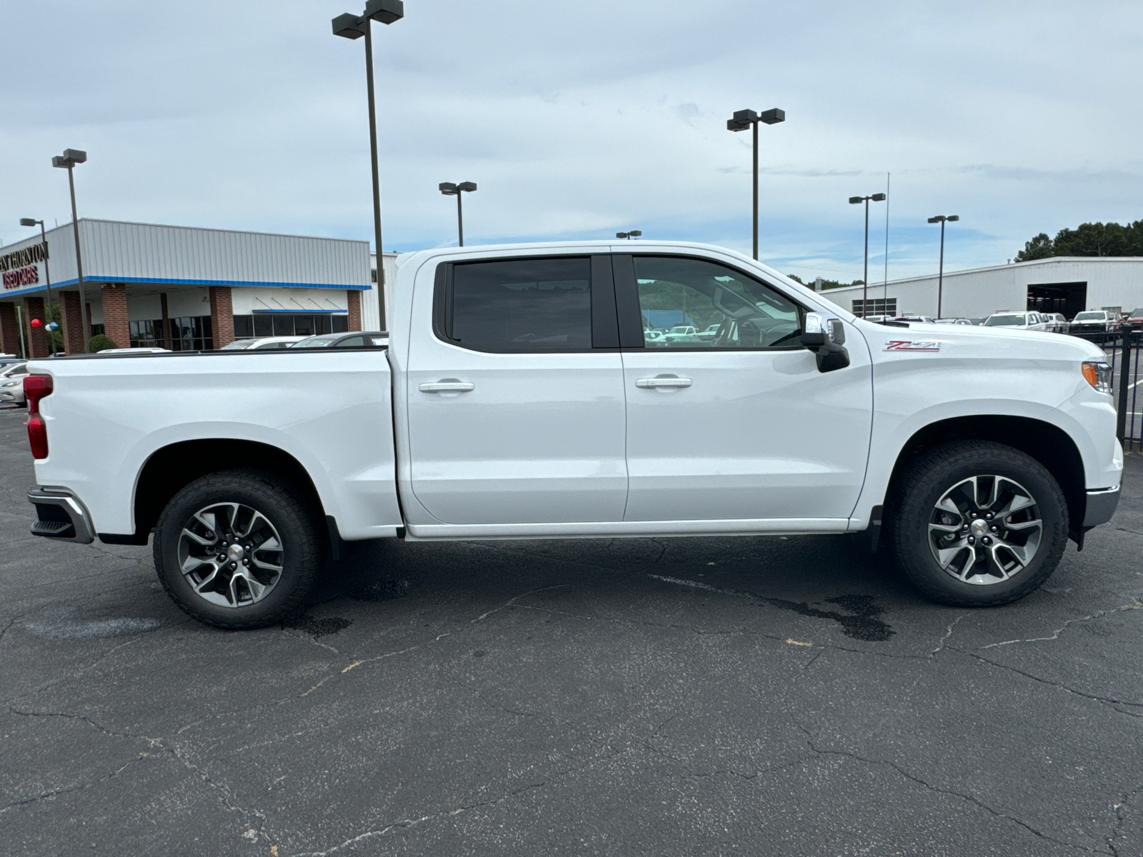
<path id="1" fill-rule="evenodd" d="M 31 322 L 45 320 L 49 285 L 69 354 L 83 350 L 83 310 L 89 337 L 173 351 L 379 327 L 368 241 L 87 218 L 79 241 L 82 283 L 71 224 L 0 247 L 0 351 L 48 354 Z M 390 291 L 397 255 L 384 257 Z"/>

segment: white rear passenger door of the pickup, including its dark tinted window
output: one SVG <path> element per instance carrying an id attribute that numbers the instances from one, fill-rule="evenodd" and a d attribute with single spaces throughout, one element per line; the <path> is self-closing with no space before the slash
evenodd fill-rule
<path id="1" fill-rule="evenodd" d="M 610 258 L 441 263 L 432 317 L 410 333 L 406 375 L 421 506 L 453 524 L 623 520 Z"/>

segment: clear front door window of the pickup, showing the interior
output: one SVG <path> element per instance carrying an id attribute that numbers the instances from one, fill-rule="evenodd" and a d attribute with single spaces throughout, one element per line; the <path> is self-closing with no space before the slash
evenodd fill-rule
<path id="1" fill-rule="evenodd" d="M 636 256 L 644 346 L 799 347 L 801 309 L 769 286 L 716 262 Z"/>

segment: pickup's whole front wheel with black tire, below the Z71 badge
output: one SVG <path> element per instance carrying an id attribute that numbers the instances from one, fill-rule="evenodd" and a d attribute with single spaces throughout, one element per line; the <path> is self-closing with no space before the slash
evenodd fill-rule
<path id="1" fill-rule="evenodd" d="M 934 601 L 992 607 L 1040 586 L 1063 556 L 1068 502 L 1042 464 L 990 441 L 945 443 L 901 479 L 889 546 Z"/>

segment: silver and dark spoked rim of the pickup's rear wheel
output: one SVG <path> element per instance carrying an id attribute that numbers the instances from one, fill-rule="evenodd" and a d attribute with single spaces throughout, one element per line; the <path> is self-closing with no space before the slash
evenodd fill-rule
<path id="1" fill-rule="evenodd" d="M 191 515 L 178 537 L 178 567 L 199 598 L 248 607 L 281 579 L 285 551 L 264 514 L 241 503 L 215 503 Z"/>

